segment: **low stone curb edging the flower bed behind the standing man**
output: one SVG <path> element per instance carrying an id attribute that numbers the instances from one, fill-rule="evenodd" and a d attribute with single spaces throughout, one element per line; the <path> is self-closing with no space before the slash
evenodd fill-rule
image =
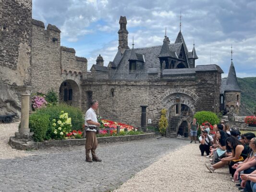
<path id="1" fill-rule="evenodd" d="M 140 139 L 152 138 L 155 133 L 146 133 L 140 135 L 125 135 L 125 136 L 115 136 L 115 137 L 98 137 L 98 143 L 113 143 L 113 142 L 123 142 L 123 141 L 133 141 Z M 9 144 L 12 148 L 19 150 L 30 150 L 30 149 L 42 149 L 49 147 L 63 147 L 63 146 L 75 146 L 75 145 L 85 145 L 86 139 L 66 139 L 66 140 L 51 140 L 44 142 L 34 142 L 32 139 L 16 139 L 15 137 L 10 137 Z"/>

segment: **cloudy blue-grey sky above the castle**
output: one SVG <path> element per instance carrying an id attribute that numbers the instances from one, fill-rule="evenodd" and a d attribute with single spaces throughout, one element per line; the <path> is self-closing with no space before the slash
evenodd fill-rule
<path id="1" fill-rule="evenodd" d="M 120 16 L 126 16 L 128 46 L 162 45 L 165 27 L 174 43 L 181 31 L 196 65 L 217 64 L 227 77 L 232 58 L 237 77 L 256 77 L 256 0 L 32 0 L 32 17 L 61 30 L 61 46 L 104 66 L 118 50 Z"/>

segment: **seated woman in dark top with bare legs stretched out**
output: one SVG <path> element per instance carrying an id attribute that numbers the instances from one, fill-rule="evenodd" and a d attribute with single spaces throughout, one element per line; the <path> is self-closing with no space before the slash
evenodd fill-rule
<path id="1" fill-rule="evenodd" d="M 241 156 L 243 150 L 244 150 L 244 145 L 241 144 L 237 138 L 230 136 L 226 139 L 226 147 L 230 148 L 232 150 L 232 156 L 224 157 L 221 158 L 221 161 L 214 165 L 207 165 L 207 169 L 213 173 L 216 169 L 218 168 L 223 168 L 225 165 L 229 164 L 231 161 L 243 161 L 244 158 Z"/>

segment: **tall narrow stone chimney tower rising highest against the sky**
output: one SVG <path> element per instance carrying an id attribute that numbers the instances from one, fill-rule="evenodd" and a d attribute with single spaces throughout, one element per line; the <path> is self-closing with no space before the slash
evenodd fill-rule
<path id="1" fill-rule="evenodd" d="M 126 30 L 126 17 L 121 16 L 119 20 L 120 24 L 120 29 L 118 31 L 118 36 L 119 36 L 119 46 L 118 49 L 121 51 L 123 54 L 125 49 L 128 49 L 128 31 Z"/>

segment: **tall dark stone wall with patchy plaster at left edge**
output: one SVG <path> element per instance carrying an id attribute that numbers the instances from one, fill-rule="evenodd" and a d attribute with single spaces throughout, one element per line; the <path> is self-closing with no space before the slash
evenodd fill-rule
<path id="1" fill-rule="evenodd" d="M 20 114 L 16 85 L 31 83 L 32 0 L 0 0 L 0 115 Z"/>

